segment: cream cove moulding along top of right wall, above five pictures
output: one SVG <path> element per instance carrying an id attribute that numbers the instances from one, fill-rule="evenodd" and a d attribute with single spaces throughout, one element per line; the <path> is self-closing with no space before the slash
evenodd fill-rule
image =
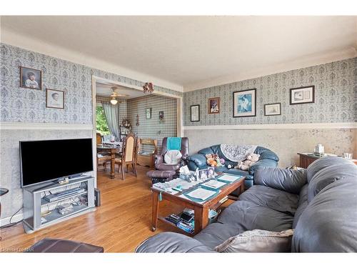
<path id="1" fill-rule="evenodd" d="M 341 61 L 343 59 L 352 59 L 357 56 L 357 50 L 354 47 L 347 49 L 330 51 L 324 54 L 308 55 L 296 59 L 295 61 L 288 61 L 282 64 L 276 64 L 253 70 L 243 71 L 239 74 L 230 74 L 227 76 L 220 76 L 213 79 L 207 79 L 204 81 L 197 81 L 192 84 L 186 84 L 183 86 L 183 92 L 194 91 L 197 89 L 206 89 L 211 86 L 219 86 L 223 84 L 230 84 L 237 81 L 244 81 L 247 79 L 254 79 L 261 76 L 267 76 L 271 74 L 278 74 L 284 71 L 291 71 L 301 68 L 307 68 L 311 66 L 317 66 L 321 64 L 329 64 L 333 61 Z"/>

